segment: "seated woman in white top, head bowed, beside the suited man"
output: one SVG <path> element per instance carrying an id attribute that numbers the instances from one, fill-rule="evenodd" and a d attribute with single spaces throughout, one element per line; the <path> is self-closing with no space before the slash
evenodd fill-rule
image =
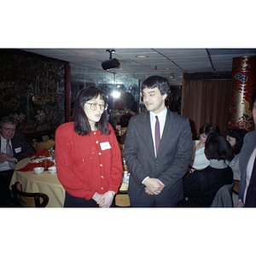
<path id="1" fill-rule="evenodd" d="M 217 125 L 206 124 L 201 126 L 199 130 L 200 139 L 193 141 L 193 154 L 189 165 L 189 171 L 193 172 L 194 170 L 202 170 L 209 166 L 210 161 L 207 160 L 205 155 L 205 146 L 207 137 L 211 133 L 220 133 Z"/>

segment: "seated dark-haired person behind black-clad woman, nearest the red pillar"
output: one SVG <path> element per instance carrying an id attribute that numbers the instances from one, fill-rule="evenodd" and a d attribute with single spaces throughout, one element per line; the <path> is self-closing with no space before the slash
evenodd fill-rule
<path id="1" fill-rule="evenodd" d="M 233 148 L 233 152 L 235 157 L 233 160 L 230 160 L 229 166 L 231 167 L 234 179 L 237 181 L 241 180 L 241 172 L 239 167 L 239 157 L 240 151 L 243 144 L 243 138 L 247 134 L 246 130 L 234 128 L 229 129 L 226 131 L 226 140 L 230 143 L 231 147 Z"/>

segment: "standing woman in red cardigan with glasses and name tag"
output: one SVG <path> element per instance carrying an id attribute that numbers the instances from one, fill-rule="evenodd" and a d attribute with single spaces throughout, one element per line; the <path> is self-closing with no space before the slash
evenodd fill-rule
<path id="1" fill-rule="evenodd" d="M 64 207 L 110 207 L 123 167 L 119 144 L 108 124 L 108 96 L 89 86 L 79 91 L 73 122 L 55 131 L 57 176 L 66 190 Z"/>

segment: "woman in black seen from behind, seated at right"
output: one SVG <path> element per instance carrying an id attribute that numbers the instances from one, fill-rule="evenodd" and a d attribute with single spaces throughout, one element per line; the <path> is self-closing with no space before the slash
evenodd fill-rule
<path id="1" fill-rule="evenodd" d="M 181 207 L 210 207 L 218 189 L 233 183 L 233 172 L 225 160 L 234 157 L 230 143 L 218 134 L 207 138 L 205 154 L 210 165 L 183 178 L 184 200 Z"/>

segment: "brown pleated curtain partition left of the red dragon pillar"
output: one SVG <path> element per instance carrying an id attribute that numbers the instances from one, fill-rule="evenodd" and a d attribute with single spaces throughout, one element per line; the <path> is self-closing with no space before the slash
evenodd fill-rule
<path id="1" fill-rule="evenodd" d="M 231 79 L 183 82 L 182 114 L 189 118 L 193 139 L 206 123 L 218 125 L 221 134 L 229 128 Z"/>

